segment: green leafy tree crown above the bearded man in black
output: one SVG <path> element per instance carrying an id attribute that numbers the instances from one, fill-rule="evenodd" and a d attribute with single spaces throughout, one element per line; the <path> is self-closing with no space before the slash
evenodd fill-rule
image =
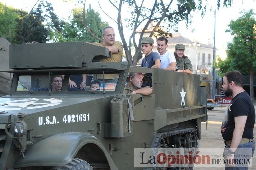
<path id="1" fill-rule="evenodd" d="M 244 73 L 249 72 L 251 66 L 255 67 L 256 60 L 256 33 L 254 25 L 256 20 L 253 10 L 243 11 L 236 21 L 231 21 L 229 29 L 234 35 L 233 43 L 228 44 L 228 57 L 235 62 L 235 67 Z"/>

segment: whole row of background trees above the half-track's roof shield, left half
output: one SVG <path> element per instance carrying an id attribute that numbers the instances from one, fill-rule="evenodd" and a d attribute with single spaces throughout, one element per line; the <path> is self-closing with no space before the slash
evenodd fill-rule
<path id="1" fill-rule="evenodd" d="M 85 6 L 85 1 L 78 1 Z M 7 7 L 0 2 L 0 36 L 11 43 L 89 41 L 99 42 L 102 29 L 108 25 L 102 22 L 94 9 L 73 9 L 70 22 L 65 22 L 54 13 L 51 3 L 38 0 L 28 13 Z"/>

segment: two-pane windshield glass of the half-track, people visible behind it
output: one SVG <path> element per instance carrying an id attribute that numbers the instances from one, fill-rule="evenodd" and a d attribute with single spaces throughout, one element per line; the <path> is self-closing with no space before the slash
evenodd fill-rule
<path id="1" fill-rule="evenodd" d="M 68 75 L 67 75 L 68 76 Z M 16 91 L 35 92 L 35 91 L 115 91 L 119 74 L 72 74 L 69 77 L 67 89 L 63 89 L 65 75 L 55 75 L 44 73 L 44 75 L 20 75 Z M 104 85 L 103 85 L 104 84 Z"/>

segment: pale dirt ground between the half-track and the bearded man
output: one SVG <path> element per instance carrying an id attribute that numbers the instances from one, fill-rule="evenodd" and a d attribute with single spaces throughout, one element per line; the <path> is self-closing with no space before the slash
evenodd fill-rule
<path id="1" fill-rule="evenodd" d="M 256 105 L 254 105 L 256 110 Z M 200 148 L 224 148 L 224 140 L 221 136 L 221 123 L 224 119 L 226 107 L 216 107 L 213 110 L 208 110 L 208 124 L 206 130 L 206 123 L 201 123 L 201 140 Z M 256 128 L 256 127 L 255 127 Z M 256 131 L 254 128 L 254 139 L 256 138 Z M 195 170 L 223 170 L 224 168 L 194 168 Z M 256 156 L 252 158 L 252 168 L 256 169 Z"/>

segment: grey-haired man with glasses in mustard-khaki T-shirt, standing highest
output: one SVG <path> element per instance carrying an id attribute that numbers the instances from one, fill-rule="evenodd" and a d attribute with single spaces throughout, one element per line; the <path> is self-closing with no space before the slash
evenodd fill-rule
<path id="1" fill-rule="evenodd" d="M 123 45 L 119 41 L 115 41 L 114 29 L 110 26 L 106 26 L 102 30 L 102 43 L 93 43 L 95 45 L 103 46 L 112 52 L 112 57 L 107 59 L 101 59 L 99 62 L 119 62 L 122 61 Z M 106 74 L 104 76 L 105 83 L 117 83 L 119 74 Z M 103 75 L 98 74 L 98 81 L 103 83 Z"/>

